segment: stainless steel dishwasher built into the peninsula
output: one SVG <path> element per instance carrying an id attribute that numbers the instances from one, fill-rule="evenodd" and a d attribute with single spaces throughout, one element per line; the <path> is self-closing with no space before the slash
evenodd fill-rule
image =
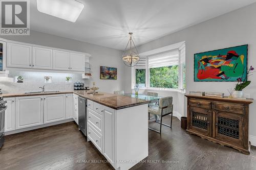
<path id="1" fill-rule="evenodd" d="M 80 131 L 87 136 L 87 100 L 78 96 L 78 126 Z"/>

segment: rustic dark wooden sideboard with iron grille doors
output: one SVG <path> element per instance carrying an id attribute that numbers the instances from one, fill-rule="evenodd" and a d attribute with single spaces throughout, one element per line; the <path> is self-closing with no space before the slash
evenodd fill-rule
<path id="1" fill-rule="evenodd" d="M 185 96 L 188 133 L 250 154 L 248 122 L 253 99 Z"/>

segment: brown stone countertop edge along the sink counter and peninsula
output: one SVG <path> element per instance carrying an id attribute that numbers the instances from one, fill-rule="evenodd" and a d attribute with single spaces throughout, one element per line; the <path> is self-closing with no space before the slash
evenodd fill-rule
<path id="1" fill-rule="evenodd" d="M 35 95 L 53 95 L 53 94 L 71 94 L 74 93 L 78 96 L 81 96 L 82 98 L 91 100 L 93 102 L 99 103 L 101 105 L 104 105 L 106 107 L 110 107 L 112 109 L 115 110 L 120 110 L 120 109 L 125 109 L 125 108 L 129 108 L 129 107 L 134 107 L 134 106 L 139 106 L 139 105 L 144 105 L 144 104 L 148 104 L 150 103 L 150 101 L 146 101 L 146 100 L 140 100 L 141 102 L 138 103 L 134 103 L 134 104 L 127 104 L 127 105 L 123 105 L 123 106 L 113 106 L 111 104 L 108 103 L 103 103 L 100 102 L 99 100 L 96 99 L 92 99 L 89 96 L 85 96 L 82 94 L 78 93 L 79 91 L 59 91 L 59 92 L 49 92 L 49 93 L 30 93 L 30 94 L 25 94 L 25 93 L 7 93 L 7 94 L 2 94 L 3 98 L 16 98 L 16 97 L 23 97 L 23 96 L 35 96 Z M 84 92 L 84 91 L 83 91 Z M 106 94 L 111 94 L 111 93 L 106 93 Z M 113 94 L 113 95 L 118 95 L 118 94 Z M 126 98 L 131 98 L 130 96 L 125 96 Z"/>

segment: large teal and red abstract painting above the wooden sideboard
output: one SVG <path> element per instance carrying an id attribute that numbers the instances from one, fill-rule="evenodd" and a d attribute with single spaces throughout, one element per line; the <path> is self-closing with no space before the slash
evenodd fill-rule
<path id="1" fill-rule="evenodd" d="M 248 45 L 194 54 L 194 81 L 237 81 L 247 79 Z"/>

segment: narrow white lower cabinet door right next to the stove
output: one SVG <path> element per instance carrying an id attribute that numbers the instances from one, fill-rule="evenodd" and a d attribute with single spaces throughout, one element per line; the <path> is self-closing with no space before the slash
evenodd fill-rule
<path id="1" fill-rule="evenodd" d="M 5 111 L 5 132 L 15 130 L 15 98 L 5 98 L 7 109 Z"/>

